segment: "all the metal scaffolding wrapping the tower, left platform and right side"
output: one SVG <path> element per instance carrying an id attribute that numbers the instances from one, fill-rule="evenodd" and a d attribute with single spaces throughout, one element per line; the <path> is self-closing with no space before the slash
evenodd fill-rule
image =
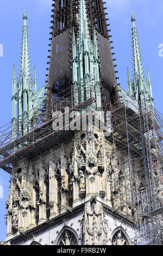
<path id="1" fill-rule="evenodd" d="M 76 88 L 77 90 L 77 88 Z M 88 89 L 87 89 L 88 90 Z M 78 92 L 76 92 L 78 94 Z M 54 131 L 52 113 L 96 110 L 96 92 L 83 91 L 84 102 L 76 105 L 76 96 L 53 96 L 52 109 L 36 112 L 26 125 L 27 133 L 15 130 L 12 123 L 0 129 L 0 167 L 11 172 L 12 164 L 24 156 L 33 157 L 73 137 L 70 130 Z M 79 95 L 79 94 L 78 94 Z M 128 94 L 111 105 L 105 102 L 104 111 L 111 113 L 111 133 L 106 136 L 113 144 L 115 166 L 110 172 L 112 208 L 135 223 L 133 245 L 162 245 L 162 114 L 147 104 L 148 99 L 136 105 Z M 106 119 L 105 119 L 106 120 Z M 30 122 L 30 125 L 29 123 Z M 64 124 L 66 125 L 66 124 Z M 20 127 L 20 125 L 16 125 Z M 111 154 L 111 152 L 110 152 Z"/>

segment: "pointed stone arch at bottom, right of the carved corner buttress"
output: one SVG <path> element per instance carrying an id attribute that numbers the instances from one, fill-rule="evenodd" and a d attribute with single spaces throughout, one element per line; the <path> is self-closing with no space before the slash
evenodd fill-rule
<path id="1" fill-rule="evenodd" d="M 131 240 L 122 226 L 115 228 L 111 233 L 111 245 L 130 245 Z"/>

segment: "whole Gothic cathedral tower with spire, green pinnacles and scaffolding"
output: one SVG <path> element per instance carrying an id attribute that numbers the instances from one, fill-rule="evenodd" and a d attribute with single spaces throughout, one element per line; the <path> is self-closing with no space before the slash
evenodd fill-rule
<path id="1" fill-rule="evenodd" d="M 163 136 L 135 16 L 127 93 L 116 82 L 102 0 L 56 0 L 53 7 L 48 80 L 40 92 L 35 71 L 33 83 L 29 74 L 23 17 L 12 132 L 0 148 L 0 167 L 11 174 L 6 243 L 159 244 Z"/>

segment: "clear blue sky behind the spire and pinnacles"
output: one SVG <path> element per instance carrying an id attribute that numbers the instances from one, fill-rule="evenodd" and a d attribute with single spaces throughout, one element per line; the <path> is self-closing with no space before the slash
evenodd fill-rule
<path id="1" fill-rule="evenodd" d="M 163 57 L 159 57 L 159 45 L 163 44 L 163 1 L 162 0 L 106 0 L 115 58 L 121 86 L 126 89 L 127 66 L 131 75 L 131 12 L 136 17 L 143 67 L 151 72 L 155 108 L 163 113 L 162 69 Z M 45 84 L 49 32 L 51 29 L 52 0 L 1 0 L 0 3 L 0 44 L 3 57 L 0 57 L 0 127 L 11 120 L 12 70 L 20 60 L 20 46 L 23 25 L 23 11 L 27 10 L 30 64 L 37 70 L 37 88 Z M 1 54 L 0 54 L 1 56 Z M 0 186 L 3 186 L 3 199 L 0 198 L 0 240 L 5 239 L 5 200 L 8 196 L 9 174 L 0 170 Z"/>

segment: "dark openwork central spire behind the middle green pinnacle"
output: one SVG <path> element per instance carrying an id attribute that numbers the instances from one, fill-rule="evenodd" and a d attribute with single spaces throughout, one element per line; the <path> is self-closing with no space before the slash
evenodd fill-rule
<path id="1" fill-rule="evenodd" d="M 54 9 L 52 12 L 52 32 L 50 33 L 52 41 L 51 55 L 49 56 L 49 74 L 48 76 L 48 108 L 51 104 L 52 93 L 60 93 L 64 97 L 71 95 L 72 85 L 72 62 L 73 62 L 73 31 L 74 36 L 77 38 L 80 35 L 79 22 L 82 24 L 86 21 L 87 29 L 89 29 L 89 36 L 93 40 L 95 28 L 96 36 L 98 40 L 98 51 L 99 51 L 99 78 L 101 84 L 101 93 L 103 100 L 110 99 L 112 101 L 117 100 L 117 78 L 115 71 L 114 61 L 112 56 L 115 53 L 111 52 L 110 41 L 111 35 L 108 35 L 110 30 L 108 29 L 109 24 L 106 24 L 108 19 L 105 18 L 105 8 L 101 0 L 84 1 L 86 13 L 85 17 L 81 17 L 80 1 L 54 1 Z M 84 24 L 82 24 L 84 26 Z M 103 51 L 105 49 L 105 51 Z M 82 66 L 84 66 L 84 59 L 80 60 Z"/>

